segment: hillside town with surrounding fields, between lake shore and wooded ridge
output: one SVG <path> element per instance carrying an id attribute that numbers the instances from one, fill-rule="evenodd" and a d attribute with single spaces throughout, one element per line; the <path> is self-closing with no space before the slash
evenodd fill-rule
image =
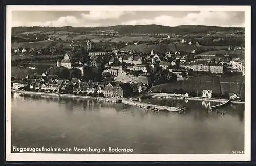
<path id="1" fill-rule="evenodd" d="M 243 30 L 205 35 L 66 33 L 13 36 L 13 89 L 106 98 L 155 92 L 244 100 Z M 70 34 L 73 39 L 65 39 Z M 97 39 L 88 39 L 92 35 Z M 20 42 L 22 38 L 29 41 Z M 110 42 L 114 39 L 119 41 Z M 33 64 L 45 62 L 52 65 L 36 72 Z M 198 78 L 200 88 L 195 87 Z"/>

